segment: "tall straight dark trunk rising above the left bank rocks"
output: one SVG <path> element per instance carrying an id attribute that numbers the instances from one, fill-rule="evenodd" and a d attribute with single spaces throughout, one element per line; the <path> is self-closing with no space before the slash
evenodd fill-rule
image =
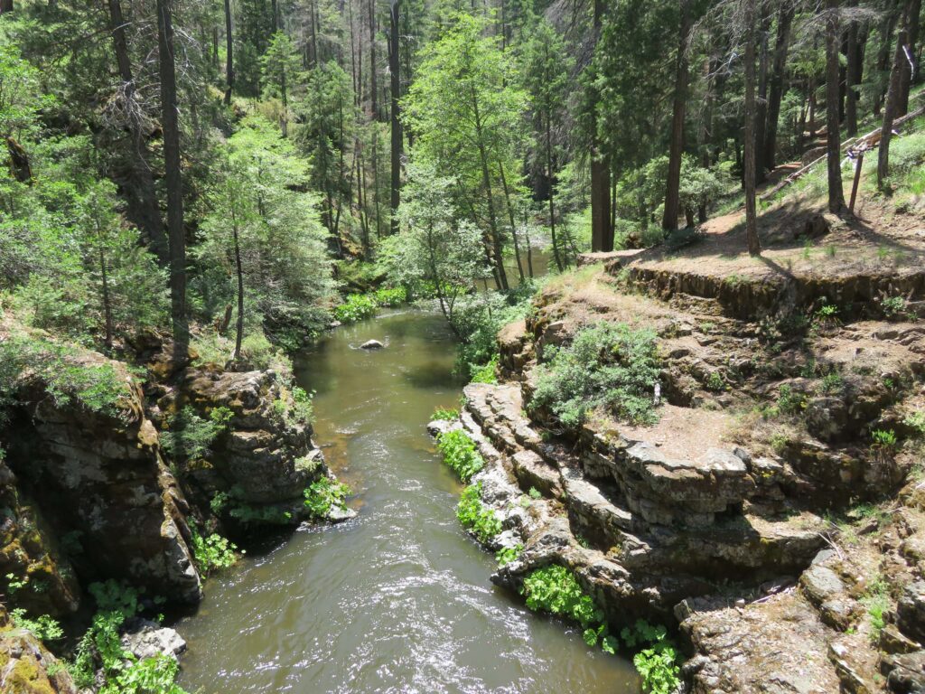
<path id="1" fill-rule="evenodd" d="M 164 129 L 167 230 L 170 242 L 170 318 L 173 323 L 174 360 L 185 363 L 190 349 L 186 316 L 186 239 L 183 233 L 183 180 L 179 161 L 177 72 L 170 0 L 156 0 L 157 56 L 161 81 L 161 125 Z"/>

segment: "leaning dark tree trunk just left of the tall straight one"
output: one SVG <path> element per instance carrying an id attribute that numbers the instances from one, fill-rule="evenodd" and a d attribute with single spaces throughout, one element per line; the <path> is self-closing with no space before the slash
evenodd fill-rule
<path id="1" fill-rule="evenodd" d="M 116 64 L 122 88 L 125 93 L 126 110 L 129 113 L 129 130 L 133 151 L 129 153 L 131 178 L 129 185 L 129 217 L 144 231 L 151 250 L 157 256 L 161 265 L 166 265 L 167 239 L 164 231 L 164 220 L 157 204 L 157 195 L 154 192 L 154 176 L 148 165 L 147 144 L 144 142 L 142 123 L 140 120 L 142 106 L 135 99 L 135 80 L 131 72 L 129 58 L 129 41 L 126 37 L 126 21 L 122 16 L 120 0 L 109 0 L 109 20 L 113 34 L 113 50 L 116 53 Z"/>

